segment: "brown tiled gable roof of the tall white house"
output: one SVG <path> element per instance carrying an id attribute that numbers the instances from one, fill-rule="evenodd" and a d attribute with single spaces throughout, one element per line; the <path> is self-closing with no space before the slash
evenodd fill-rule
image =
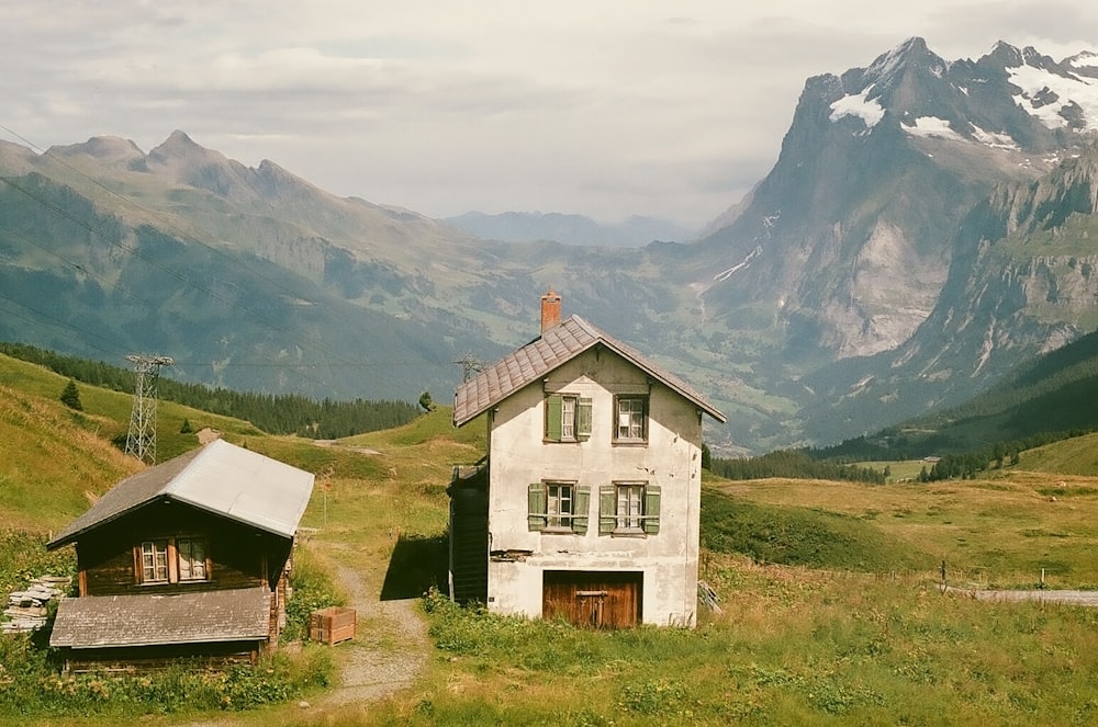
<path id="1" fill-rule="evenodd" d="M 461 427 L 524 386 L 533 384 L 600 344 L 685 397 L 717 421 L 725 421 L 725 414 L 684 380 L 648 361 L 625 343 L 603 333 L 579 316 L 572 316 L 460 385 L 453 395 L 455 425 Z"/>

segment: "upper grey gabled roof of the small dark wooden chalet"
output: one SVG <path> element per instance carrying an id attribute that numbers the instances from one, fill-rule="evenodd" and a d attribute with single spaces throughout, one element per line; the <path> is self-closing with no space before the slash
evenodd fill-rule
<path id="1" fill-rule="evenodd" d="M 313 475 L 214 440 L 128 477 L 46 544 L 48 549 L 154 500 L 183 502 L 260 530 L 293 537 L 313 491 Z"/>

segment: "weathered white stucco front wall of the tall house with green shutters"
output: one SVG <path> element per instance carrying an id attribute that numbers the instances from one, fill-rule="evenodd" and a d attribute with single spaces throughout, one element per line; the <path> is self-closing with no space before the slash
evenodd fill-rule
<path id="1" fill-rule="evenodd" d="M 592 435 L 545 442 L 545 397 L 592 399 Z M 614 396 L 649 396 L 648 442 L 614 444 Z M 515 393 L 491 412 L 490 550 L 530 550 L 520 561 L 489 563 L 489 609 L 541 615 L 542 571 L 629 570 L 643 573 L 645 623 L 693 625 L 697 610 L 701 413 L 687 399 L 602 347 Z M 528 486 L 546 479 L 591 488 L 584 535 L 528 527 Z M 635 480 L 661 488 L 660 532 L 598 533 L 598 488 Z"/>

